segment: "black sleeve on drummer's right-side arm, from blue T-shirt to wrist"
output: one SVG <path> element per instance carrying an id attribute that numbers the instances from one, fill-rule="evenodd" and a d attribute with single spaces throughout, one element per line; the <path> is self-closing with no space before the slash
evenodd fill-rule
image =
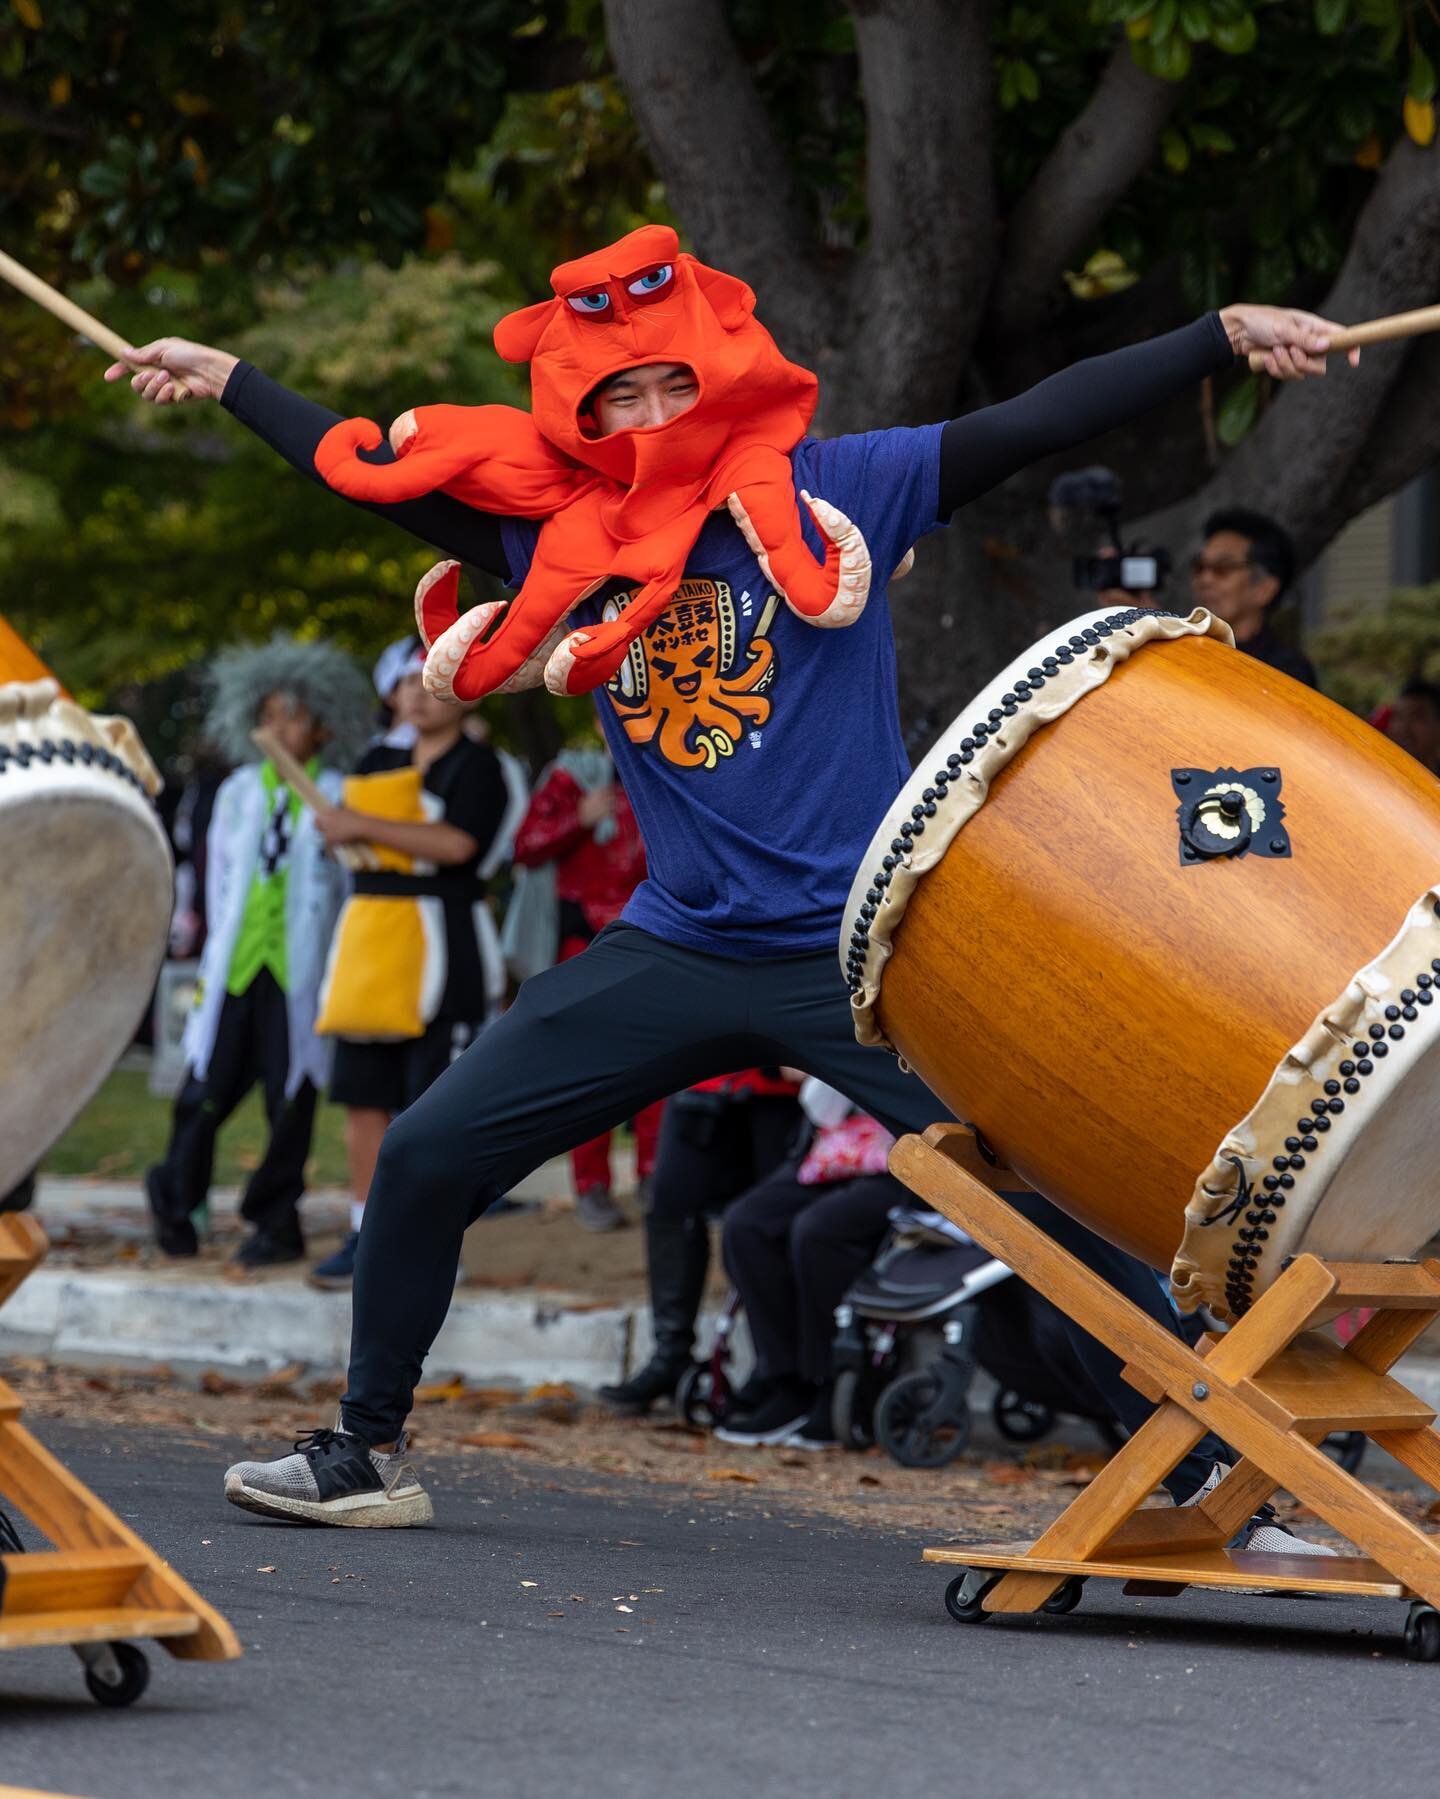
<path id="1" fill-rule="evenodd" d="M 1028 462 L 1098 437 L 1235 360 L 1219 313 L 1076 362 L 1015 399 L 950 419 L 940 434 L 940 518 Z"/>

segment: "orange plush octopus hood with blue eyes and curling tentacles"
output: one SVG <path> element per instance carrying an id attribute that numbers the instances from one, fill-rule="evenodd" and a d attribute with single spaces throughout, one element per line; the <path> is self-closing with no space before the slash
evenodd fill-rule
<path id="1" fill-rule="evenodd" d="M 869 594 L 864 538 L 844 513 L 803 495 L 828 540 L 819 563 L 801 536 L 790 468 L 817 381 L 781 356 L 745 282 L 682 254 L 668 225 L 643 225 L 562 263 L 551 286 L 554 299 L 495 327 L 506 362 L 531 365 L 531 412 L 418 407 L 409 435 L 392 428 L 398 461 L 383 464 L 356 455 L 378 446 L 378 426 L 347 419 L 315 452 L 324 480 L 356 500 L 439 489 L 488 513 L 544 520 L 513 601 L 461 613 L 457 563 L 421 581 L 427 687 L 477 700 L 529 685 L 536 662 L 553 693 L 610 680 L 670 604 L 718 507 L 729 507 L 792 612 L 812 624 L 851 624 Z M 594 390 L 657 362 L 695 372 L 695 403 L 664 425 L 601 435 L 589 410 Z M 634 601 L 607 624 L 567 631 L 567 613 L 612 577 L 639 586 Z"/>

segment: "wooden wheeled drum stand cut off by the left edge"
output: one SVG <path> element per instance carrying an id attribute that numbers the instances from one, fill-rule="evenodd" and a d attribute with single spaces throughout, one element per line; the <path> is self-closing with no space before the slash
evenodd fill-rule
<path id="1" fill-rule="evenodd" d="M 45 1247 L 32 1218 L 0 1214 L 0 1304 Z M 0 1554 L 0 1650 L 72 1644 L 101 1705 L 130 1705 L 149 1678 L 144 1653 L 128 1637 L 155 1637 L 187 1660 L 239 1655 L 220 1612 L 23 1428 L 20 1398 L 2 1380 L 0 1499 L 56 1545 Z"/>

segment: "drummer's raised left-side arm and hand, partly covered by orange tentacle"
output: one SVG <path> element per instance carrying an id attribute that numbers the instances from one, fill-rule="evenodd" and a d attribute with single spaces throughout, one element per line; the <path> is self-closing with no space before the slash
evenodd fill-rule
<path id="1" fill-rule="evenodd" d="M 293 394 L 279 381 L 272 381 L 268 374 L 261 374 L 252 363 L 205 344 L 157 338 L 135 351 L 133 360 L 144 367 L 131 374 L 126 363 L 117 362 L 106 369 L 106 381 L 131 376 L 130 385 L 137 394 L 164 407 L 182 398 L 175 387 L 178 376 L 187 389 L 184 398 L 218 399 L 227 412 L 270 444 L 277 455 L 283 455 L 292 468 L 324 486 L 315 473 L 315 446 L 329 426 L 340 421 L 338 412 Z M 369 452 L 367 459 L 392 462 L 394 452 L 389 444 L 382 444 L 380 450 Z M 479 513 L 445 493 L 432 493 L 421 500 L 398 500 L 391 506 L 369 500 L 349 504 L 403 525 L 405 531 L 425 543 L 437 545 L 457 561 L 473 563 L 488 574 L 509 579 L 500 520 L 491 513 Z"/>

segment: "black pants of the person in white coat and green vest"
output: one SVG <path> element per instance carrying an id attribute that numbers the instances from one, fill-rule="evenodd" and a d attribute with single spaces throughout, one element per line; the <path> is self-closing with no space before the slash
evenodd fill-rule
<path id="1" fill-rule="evenodd" d="M 245 1184 L 239 1213 L 272 1236 L 301 1234 L 299 1204 L 315 1128 L 315 1088 L 302 1081 L 284 1097 L 290 1072 L 290 1020 L 279 982 L 263 968 L 243 993 L 227 993 L 205 1079 L 185 1076 L 175 1097 L 175 1123 L 164 1162 L 149 1171 L 157 1211 L 180 1223 L 205 1204 L 220 1126 L 259 1081 L 270 1142 Z"/>

